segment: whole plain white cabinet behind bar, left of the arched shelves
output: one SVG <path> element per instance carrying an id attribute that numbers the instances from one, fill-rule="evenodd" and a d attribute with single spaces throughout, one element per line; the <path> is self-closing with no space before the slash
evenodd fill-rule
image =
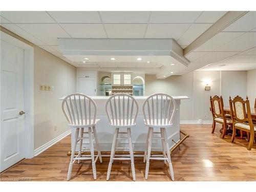
<path id="1" fill-rule="evenodd" d="M 77 92 L 88 96 L 96 95 L 96 71 L 77 70 Z"/>

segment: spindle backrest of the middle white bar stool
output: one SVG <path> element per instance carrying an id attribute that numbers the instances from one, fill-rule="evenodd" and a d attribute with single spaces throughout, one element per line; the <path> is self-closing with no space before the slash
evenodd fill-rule
<path id="1" fill-rule="evenodd" d="M 129 126 L 136 123 L 139 105 L 133 96 L 118 93 L 106 101 L 105 110 L 111 125 Z"/>

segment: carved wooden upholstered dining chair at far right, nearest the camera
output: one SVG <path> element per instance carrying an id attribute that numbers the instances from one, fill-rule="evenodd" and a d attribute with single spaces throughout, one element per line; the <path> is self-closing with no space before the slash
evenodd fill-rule
<path id="1" fill-rule="evenodd" d="M 237 129 L 247 132 L 247 134 L 250 135 L 247 150 L 251 150 L 254 134 L 256 134 L 256 124 L 253 124 L 252 122 L 248 97 L 246 97 L 246 100 L 243 100 L 242 97 L 236 96 L 233 100 L 231 100 L 231 97 L 229 96 L 229 105 L 233 123 L 231 142 L 234 141 Z"/>

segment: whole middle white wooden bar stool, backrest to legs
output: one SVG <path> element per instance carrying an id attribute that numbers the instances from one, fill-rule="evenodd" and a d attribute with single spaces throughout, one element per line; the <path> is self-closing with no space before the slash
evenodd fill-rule
<path id="1" fill-rule="evenodd" d="M 131 127 L 136 125 L 136 118 L 138 115 L 139 106 L 137 101 L 133 96 L 125 93 L 119 93 L 111 96 L 108 101 L 106 101 L 106 114 L 109 118 L 110 125 L 115 128 L 110 163 L 108 168 L 108 173 L 106 175 L 106 180 L 110 178 L 110 172 L 112 163 L 114 160 L 131 160 L 133 180 L 135 181 L 135 166 L 134 166 L 134 154 L 133 154 L 133 144 L 131 138 Z M 119 129 L 126 129 L 127 132 L 119 132 Z M 127 137 L 118 137 L 119 135 L 127 135 Z M 130 158 L 126 157 L 115 157 L 115 151 L 118 148 L 125 149 L 123 147 L 116 147 L 117 140 L 127 139 L 129 143 Z"/>

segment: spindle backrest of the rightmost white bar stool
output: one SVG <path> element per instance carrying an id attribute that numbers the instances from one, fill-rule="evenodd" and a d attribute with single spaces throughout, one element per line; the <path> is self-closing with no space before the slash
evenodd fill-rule
<path id="1" fill-rule="evenodd" d="M 156 93 L 144 101 L 142 111 L 146 124 L 172 124 L 176 112 L 176 101 L 170 95 Z"/>

